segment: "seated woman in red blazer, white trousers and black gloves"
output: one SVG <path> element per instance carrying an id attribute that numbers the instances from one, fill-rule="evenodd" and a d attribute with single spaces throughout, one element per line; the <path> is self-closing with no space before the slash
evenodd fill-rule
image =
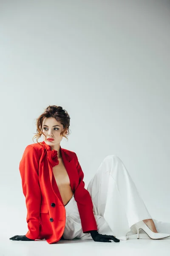
<path id="1" fill-rule="evenodd" d="M 119 157 L 105 157 L 85 189 L 77 154 L 60 146 L 69 126 L 70 116 L 60 106 L 48 106 L 37 119 L 34 137 L 44 140 L 26 147 L 19 166 L 28 232 L 10 239 L 53 244 L 74 238 L 119 242 L 146 233 L 151 239 L 170 236 L 170 223 L 153 221 Z M 141 230 L 145 233 L 139 237 Z"/>

